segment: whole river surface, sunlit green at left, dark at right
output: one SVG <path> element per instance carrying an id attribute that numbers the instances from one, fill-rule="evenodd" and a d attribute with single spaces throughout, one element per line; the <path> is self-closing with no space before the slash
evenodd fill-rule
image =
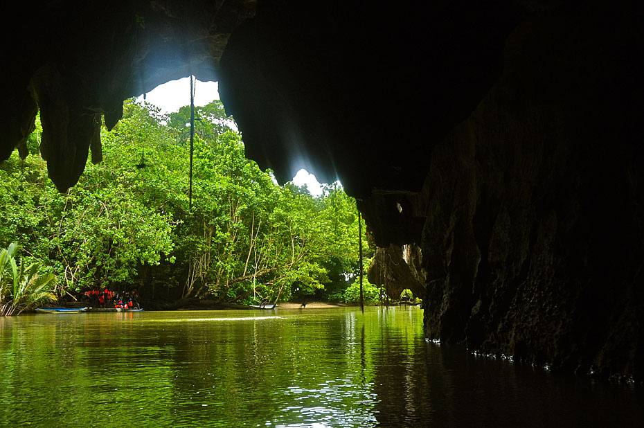
<path id="1" fill-rule="evenodd" d="M 643 427 L 632 384 L 424 340 L 418 307 L 0 319 L 0 426 Z"/>

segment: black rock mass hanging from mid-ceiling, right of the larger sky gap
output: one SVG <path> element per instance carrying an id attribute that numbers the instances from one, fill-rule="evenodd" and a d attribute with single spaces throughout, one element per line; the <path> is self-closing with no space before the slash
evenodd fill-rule
<path id="1" fill-rule="evenodd" d="M 229 39 L 220 94 L 278 181 L 305 165 L 361 199 L 420 190 L 425 155 L 501 73 L 517 19 L 475 1 L 263 1 Z"/>

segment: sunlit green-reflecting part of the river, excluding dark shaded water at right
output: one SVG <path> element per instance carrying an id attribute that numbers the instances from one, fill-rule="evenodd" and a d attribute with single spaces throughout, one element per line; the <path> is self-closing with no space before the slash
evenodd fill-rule
<path id="1" fill-rule="evenodd" d="M 373 426 L 379 355 L 404 362 L 418 346 L 415 307 L 2 319 L 0 420 Z"/>

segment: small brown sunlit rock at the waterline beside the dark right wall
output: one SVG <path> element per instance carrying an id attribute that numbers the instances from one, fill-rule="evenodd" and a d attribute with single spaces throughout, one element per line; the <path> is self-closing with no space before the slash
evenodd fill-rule
<path id="1" fill-rule="evenodd" d="M 377 248 L 367 275 L 373 285 L 384 286 L 388 298 L 393 300 L 398 300 L 406 288 L 411 289 L 415 297 L 424 298 L 426 277 L 422 251 L 414 244 Z"/>

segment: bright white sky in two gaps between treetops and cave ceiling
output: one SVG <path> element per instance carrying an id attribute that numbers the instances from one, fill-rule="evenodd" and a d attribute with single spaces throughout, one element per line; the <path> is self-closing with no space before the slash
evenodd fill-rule
<path id="1" fill-rule="evenodd" d="M 219 99 L 219 82 L 195 81 L 195 105 L 203 107 L 208 102 Z M 138 96 L 136 101 L 143 102 L 143 94 Z M 159 107 L 161 113 L 178 112 L 179 108 L 184 107 L 184 105 L 190 105 L 190 78 L 170 80 L 170 82 L 160 84 L 145 94 L 145 101 Z M 319 181 L 305 169 L 297 172 L 293 177 L 293 183 L 296 186 L 306 184 L 309 192 L 314 197 L 322 194 L 322 186 Z"/>

